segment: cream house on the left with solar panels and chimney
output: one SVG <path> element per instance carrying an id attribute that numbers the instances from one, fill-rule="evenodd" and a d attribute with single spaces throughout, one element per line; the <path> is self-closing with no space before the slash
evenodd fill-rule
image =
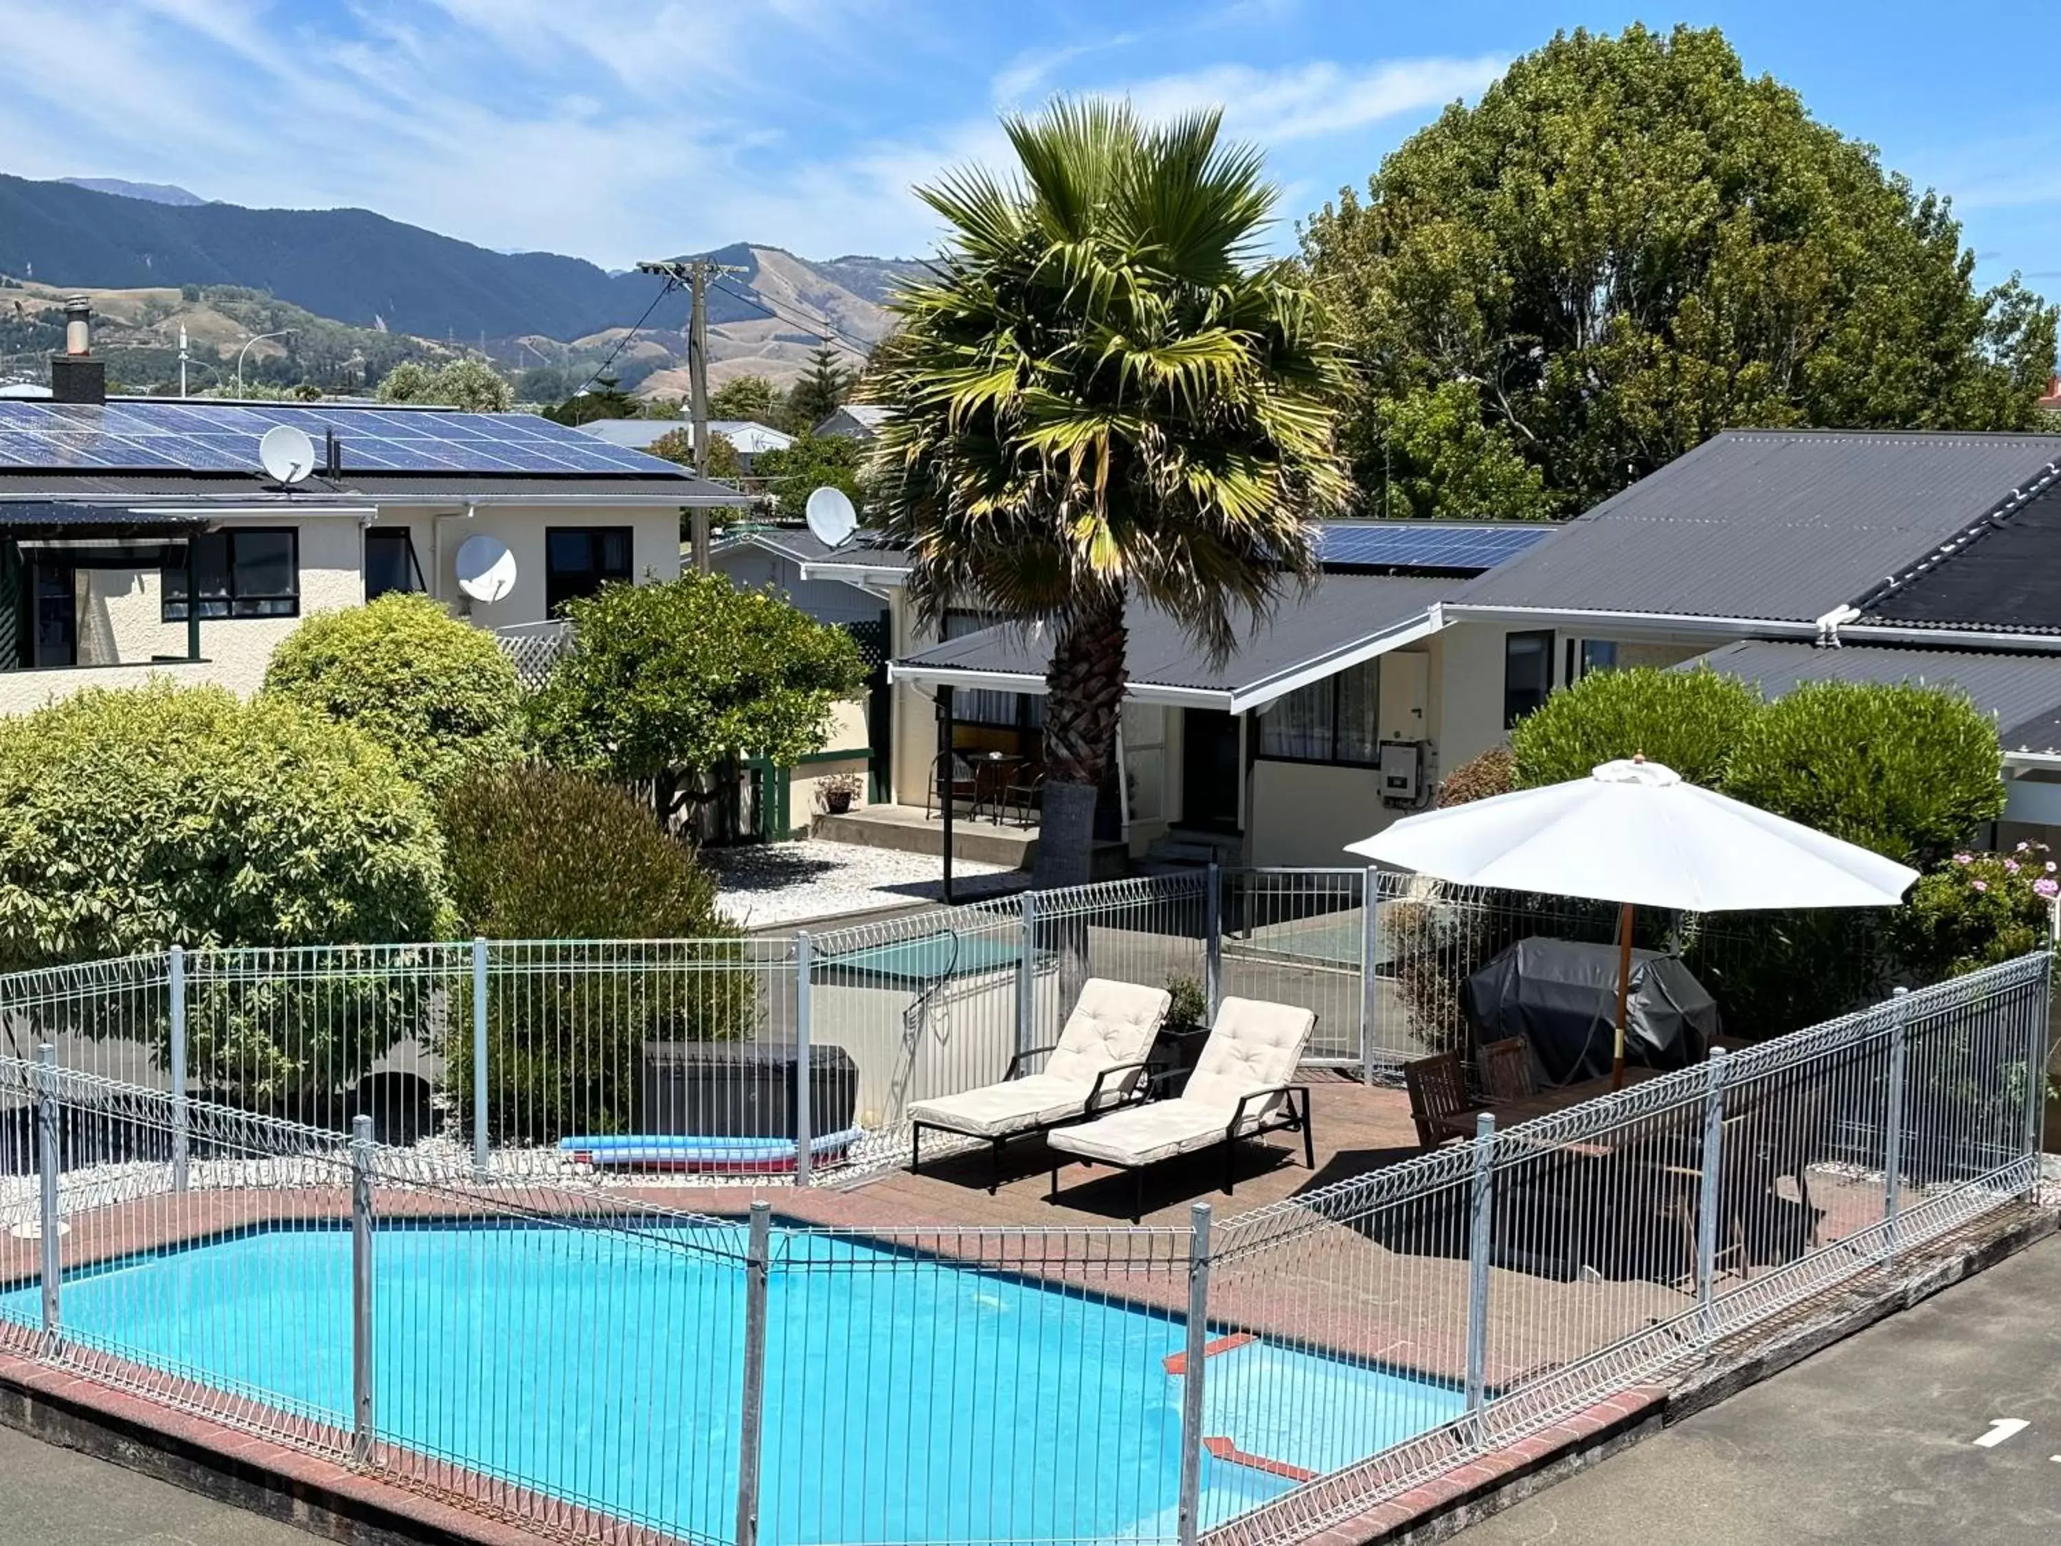
<path id="1" fill-rule="evenodd" d="M 0 713 L 161 672 L 239 693 L 309 612 L 420 590 L 484 629 L 546 623 L 602 583 L 680 573 L 682 507 L 742 505 L 672 462 L 534 414 L 101 398 L 89 355 L 56 400 L 0 400 Z M 282 486 L 258 443 L 319 451 Z M 513 559 L 493 602 L 455 554 Z"/>

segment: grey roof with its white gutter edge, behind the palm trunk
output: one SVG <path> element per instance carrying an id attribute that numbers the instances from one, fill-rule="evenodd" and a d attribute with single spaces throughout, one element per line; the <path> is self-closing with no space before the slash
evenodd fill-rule
<path id="1" fill-rule="evenodd" d="M 1259 709 L 1307 682 L 1420 639 L 1432 631 L 1430 604 L 1453 581 L 1434 575 L 1325 575 L 1309 596 L 1286 596 L 1270 623 L 1212 664 L 1164 612 L 1125 608 L 1129 695 L 1144 701 Z M 919 649 L 890 666 L 897 680 L 1045 691 L 1051 639 L 1043 627 L 993 627 Z"/>

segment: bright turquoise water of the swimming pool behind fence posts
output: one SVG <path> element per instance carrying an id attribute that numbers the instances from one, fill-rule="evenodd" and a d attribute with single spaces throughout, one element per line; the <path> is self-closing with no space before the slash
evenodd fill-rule
<path id="1" fill-rule="evenodd" d="M 734 1538 L 742 1231 L 383 1220 L 381 1439 L 678 1534 Z M 775 1231 L 761 1540 L 1173 1536 L 1183 1325 L 936 1257 Z M 1123 1290 L 1121 1276 L 1111 1282 Z M 37 1288 L 0 1295 L 33 1323 Z M 66 1276 L 66 1332 L 348 1426 L 350 1235 L 270 1229 Z M 1206 1435 L 1325 1472 L 1457 1391 L 1251 1342 Z M 1290 1486 L 1204 1461 L 1204 1521 Z"/>

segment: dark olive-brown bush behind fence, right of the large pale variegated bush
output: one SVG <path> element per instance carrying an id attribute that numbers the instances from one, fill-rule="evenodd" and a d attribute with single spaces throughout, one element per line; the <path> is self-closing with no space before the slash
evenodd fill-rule
<path id="1" fill-rule="evenodd" d="M 633 1132 L 645 1041 L 732 1041 L 758 1024 L 748 946 L 715 882 L 620 789 L 544 767 L 476 771 L 443 806 L 466 923 L 507 954 L 488 1000 L 488 1134 L 546 1144 Z M 585 940 L 692 940 L 587 946 Z M 606 971 L 594 971 L 604 965 Z M 451 1020 L 447 1086 L 470 1123 L 472 1010 Z"/>

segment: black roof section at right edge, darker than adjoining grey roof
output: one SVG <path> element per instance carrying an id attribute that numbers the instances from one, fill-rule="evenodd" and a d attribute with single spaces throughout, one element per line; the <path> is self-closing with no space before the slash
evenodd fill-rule
<path id="1" fill-rule="evenodd" d="M 1861 600 L 1861 620 L 2061 633 L 2061 478 L 2020 493 Z"/>

